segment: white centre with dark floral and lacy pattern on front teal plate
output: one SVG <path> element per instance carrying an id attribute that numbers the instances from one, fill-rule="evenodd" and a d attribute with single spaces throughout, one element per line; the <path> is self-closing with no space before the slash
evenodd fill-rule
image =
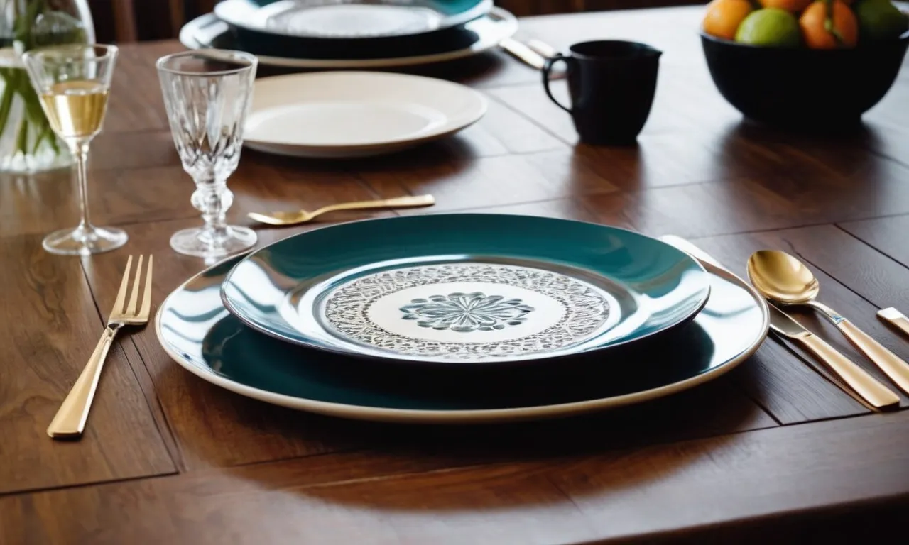
<path id="1" fill-rule="evenodd" d="M 345 282 L 318 312 L 346 342 L 401 355 L 478 361 L 561 351 L 614 325 L 614 297 L 559 272 L 439 263 Z M 303 305 L 308 305 L 306 298 Z M 617 305 L 615 305 L 617 307 Z M 307 313 L 297 308 L 297 316 Z"/>

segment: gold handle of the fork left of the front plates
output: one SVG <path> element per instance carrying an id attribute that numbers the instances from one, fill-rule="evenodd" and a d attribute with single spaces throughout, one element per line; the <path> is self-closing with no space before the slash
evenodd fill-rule
<path id="1" fill-rule="evenodd" d="M 51 425 L 47 427 L 47 435 L 54 439 L 71 439 L 82 435 L 82 431 L 85 430 L 85 421 L 88 419 L 88 410 L 95 398 L 95 390 L 107 358 L 107 351 L 114 342 L 116 332 L 117 328 L 109 325 L 105 327 L 105 332 L 101 334 L 101 339 L 95 345 L 95 352 L 92 352 L 92 357 L 85 364 L 85 369 L 82 370 L 82 374 L 73 384 L 73 389 L 69 391 L 63 404 L 60 405 Z"/>

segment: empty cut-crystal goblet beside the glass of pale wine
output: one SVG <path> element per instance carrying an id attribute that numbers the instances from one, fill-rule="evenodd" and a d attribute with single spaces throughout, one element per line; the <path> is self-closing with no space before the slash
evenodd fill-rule
<path id="1" fill-rule="evenodd" d="M 225 223 L 234 202 L 227 177 L 236 170 L 258 60 L 239 51 L 206 49 L 158 59 L 167 118 L 183 168 L 195 182 L 192 203 L 202 227 L 171 237 L 178 253 L 212 262 L 255 245 L 255 232 Z"/>

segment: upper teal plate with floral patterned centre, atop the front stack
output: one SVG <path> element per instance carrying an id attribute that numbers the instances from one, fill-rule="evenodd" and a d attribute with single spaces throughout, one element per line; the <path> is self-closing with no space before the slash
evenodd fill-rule
<path id="1" fill-rule="evenodd" d="M 704 268 L 624 229 L 438 214 L 301 233 L 228 273 L 227 310 L 310 348 L 405 362 L 550 361 L 664 332 L 699 312 Z"/>

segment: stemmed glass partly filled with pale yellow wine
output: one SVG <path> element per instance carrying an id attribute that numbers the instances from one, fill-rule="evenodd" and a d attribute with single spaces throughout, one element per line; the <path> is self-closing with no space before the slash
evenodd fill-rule
<path id="1" fill-rule="evenodd" d="M 45 250 L 65 255 L 91 255 L 119 248 L 127 236 L 114 227 L 95 227 L 88 215 L 88 148 L 101 132 L 107 95 L 114 74 L 115 45 L 58 45 L 23 55 L 47 121 L 75 157 L 82 219 L 75 229 L 45 237 Z"/>

